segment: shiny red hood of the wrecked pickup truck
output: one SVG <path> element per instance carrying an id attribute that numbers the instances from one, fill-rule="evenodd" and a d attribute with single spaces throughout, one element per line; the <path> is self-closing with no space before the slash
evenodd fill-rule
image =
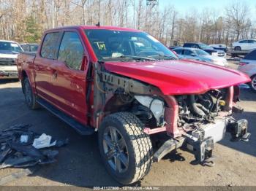
<path id="1" fill-rule="evenodd" d="M 239 71 L 189 60 L 104 64 L 108 71 L 159 87 L 165 95 L 206 93 L 250 81 Z"/>

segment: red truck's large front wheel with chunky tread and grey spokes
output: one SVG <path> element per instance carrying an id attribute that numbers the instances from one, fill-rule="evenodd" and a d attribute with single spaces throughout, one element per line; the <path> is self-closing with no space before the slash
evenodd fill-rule
<path id="1" fill-rule="evenodd" d="M 118 112 L 105 117 L 98 136 L 105 168 L 117 182 L 132 184 L 148 174 L 153 161 L 151 139 L 134 114 Z"/>

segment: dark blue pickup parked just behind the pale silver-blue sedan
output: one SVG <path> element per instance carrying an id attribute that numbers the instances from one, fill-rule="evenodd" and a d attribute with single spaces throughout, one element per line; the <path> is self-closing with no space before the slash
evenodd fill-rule
<path id="1" fill-rule="evenodd" d="M 200 42 L 186 42 L 183 44 L 183 47 L 198 48 L 208 52 L 210 55 L 215 55 L 219 57 L 225 57 L 226 53 L 222 50 L 214 50 L 212 47 L 209 47 L 207 44 Z"/>

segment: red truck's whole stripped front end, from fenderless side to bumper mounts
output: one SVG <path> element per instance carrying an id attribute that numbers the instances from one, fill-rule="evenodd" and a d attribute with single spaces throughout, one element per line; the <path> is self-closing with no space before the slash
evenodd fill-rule
<path id="1" fill-rule="evenodd" d="M 236 121 L 232 112 L 242 110 L 233 106 L 238 101 L 238 87 L 208 90 L 202 94 L 165 95 L 154 85 L 110 73 L 100 63 L 95 65 L 94 117 L 99 124 L 102 118 L 114 112 L 129 111 L 143 122 L 144 133 L 157 138 L 154 161 L 167 153 L 184 147 L 189 149 L 198 163 L 211 165 L 214 144 L 226 132 L 232 141 L 248 141 L 247 121 Z M 103 106 L 103 107 L 102 107 Z M 103 109 L 102 109 L 103 108 Z M 167 136 L 166 136 L 167 135 Z"/>

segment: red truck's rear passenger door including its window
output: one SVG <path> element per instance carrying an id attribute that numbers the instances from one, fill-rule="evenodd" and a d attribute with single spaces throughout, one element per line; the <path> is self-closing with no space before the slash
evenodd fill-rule
<path id="1" fill-rule="evenodd" d="M 50 32 L 45 34 L 42 47 L 37 52 L 34 60 L 34 78 L 36 82 L 37 95 L 53 103 L 52 79 L 56 71 L 53 64 L 57 59 L 57 47 L 61 39 L 61 32 Z"/>

